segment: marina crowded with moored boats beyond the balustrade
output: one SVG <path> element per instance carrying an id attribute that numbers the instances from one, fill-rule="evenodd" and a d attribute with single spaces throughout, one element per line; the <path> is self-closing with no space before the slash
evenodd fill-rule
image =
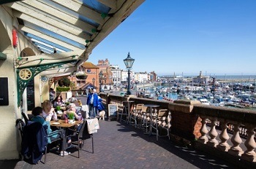
<path id="1" fill-rule="evenodd" d="M 251 77 L 251 76 L 250 76 Z M 138 98 L 150 98 L 162 101 L 178 99 L 197 100 L 211 106 L 227 106 L 230 108 L 255 109 L 255 79 L 213 79 L 207 83 L 192 82 L 192 78 L 167 79 L 162 77 L 157 82 L 132 85 L 132 93 Z M 232 82 L 230 82 L 232 81 Z M 125 87 L 121 93 L 125 93 Z"/>

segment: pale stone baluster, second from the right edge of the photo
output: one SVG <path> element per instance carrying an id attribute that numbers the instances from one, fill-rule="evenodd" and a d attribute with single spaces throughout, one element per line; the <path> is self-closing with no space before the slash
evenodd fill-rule
<path id="1" fill-rule="evenodd" d="M 241 137 L 239 135 L 240 130 L 241 130 L 239 128 L 239 126 L 241 124 L 236 123 L 236 122 L 233 122 L 233 123 L 234 123 L 234 127 L 233 127 L 234 133 L 233 133 L 233 136 L 231 138 L 231 142 L 232 142 L 233 146 L 231 146 L 231 148 L 228 150 L 228 153 L 232 154 L 234 156 L 241 156 L 241 154 L 244 153 L 244 151 L 240 147 L 240 144 L 241 144 L 242 140 L 241 140 Z"/>

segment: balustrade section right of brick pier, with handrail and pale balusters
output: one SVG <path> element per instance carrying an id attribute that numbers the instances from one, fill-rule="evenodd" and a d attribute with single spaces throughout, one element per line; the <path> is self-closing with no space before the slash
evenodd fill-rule
<path id="1" fill-rule="evenodd" d="M 194 106 L 194 113 L 200 117 L 202 122 L 201 136 L 198 139 L 201 144 L 206 144 L 236 157 L 241 157 L 241 159 L 249 162 L 256 162 L 255 111 L 196 105 Z M 207 120 L 211 120 L 210 130 L 206 127 Z M 222 129 L 221 133 L 217 133 L 216 130 L 218 121 Z M 230 138 L 227 130 L 231 126 L 233 135 Z M 243 131 L 241 132 L 241 130 Z M 243 142 L 241 137 L 245 135 L 244 132 L 246 132 L 246 141 Z M 217 141 L 217 136 L 219 136 L 220 141 Z M 231 145 L 227 143 L 228 141 L 231 141 Z M 241 144 L 244 144 L 246 147 L 245 151 L 241 148 Z"/>

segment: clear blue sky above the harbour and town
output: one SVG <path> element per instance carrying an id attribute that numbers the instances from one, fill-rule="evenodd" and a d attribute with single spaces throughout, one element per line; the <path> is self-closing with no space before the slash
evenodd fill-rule
<path id="1" fill-rule="evenodd" d="M 255 0 L 146 0 L 89 56 L 157 75 L 255 75 Z"/>

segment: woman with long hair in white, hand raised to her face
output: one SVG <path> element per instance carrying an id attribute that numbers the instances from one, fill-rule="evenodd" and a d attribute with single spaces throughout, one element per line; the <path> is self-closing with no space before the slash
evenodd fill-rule
<path id="1" fill-rule="evenodd" d="M 42 103 L 42 117 L 44 117 L 46 121 L 50 121 L 52 119 L 58 120 L 53 104 L 49 100 L 45 100 Z"/>

